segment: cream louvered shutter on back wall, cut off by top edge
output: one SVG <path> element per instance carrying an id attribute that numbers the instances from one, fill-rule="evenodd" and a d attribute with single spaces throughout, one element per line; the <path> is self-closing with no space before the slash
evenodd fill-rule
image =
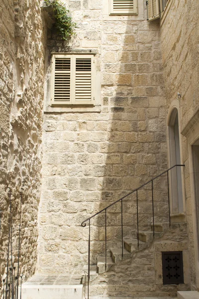
<path id="1" fill-rule="evenodd" d="M 110 14 L 137 14 L 137 0 L 109 0 Z"/>

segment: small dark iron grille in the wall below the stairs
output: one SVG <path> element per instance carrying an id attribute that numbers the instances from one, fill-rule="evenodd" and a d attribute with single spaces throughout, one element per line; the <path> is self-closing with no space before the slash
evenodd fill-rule
<path id="1" fill-rule="evenodd" d="M 163 285 L 184 284 L 183 252 L 162 252 Z"/>

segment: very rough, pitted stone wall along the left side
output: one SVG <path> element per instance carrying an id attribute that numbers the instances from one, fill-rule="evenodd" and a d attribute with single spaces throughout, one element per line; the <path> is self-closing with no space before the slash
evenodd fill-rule
<path id="1" fill-rule="evenodd" d="M 39 0 L 0 2 L 0 275 L 6 267 L 7 186 L 10 180 L 16 262 L 19 189 L 24 180 L 19 273 L 25 279 L 34 273 L 37 259 L 45 33 L 39 5 Z"/>

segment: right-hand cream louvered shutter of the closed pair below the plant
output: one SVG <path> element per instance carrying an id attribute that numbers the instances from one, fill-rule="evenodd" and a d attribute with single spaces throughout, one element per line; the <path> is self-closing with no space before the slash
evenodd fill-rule
<path id="1" fill-rule="evenodd" d="M 94 56 L 75 55 L 72 104 L 94 104 Z"/>

